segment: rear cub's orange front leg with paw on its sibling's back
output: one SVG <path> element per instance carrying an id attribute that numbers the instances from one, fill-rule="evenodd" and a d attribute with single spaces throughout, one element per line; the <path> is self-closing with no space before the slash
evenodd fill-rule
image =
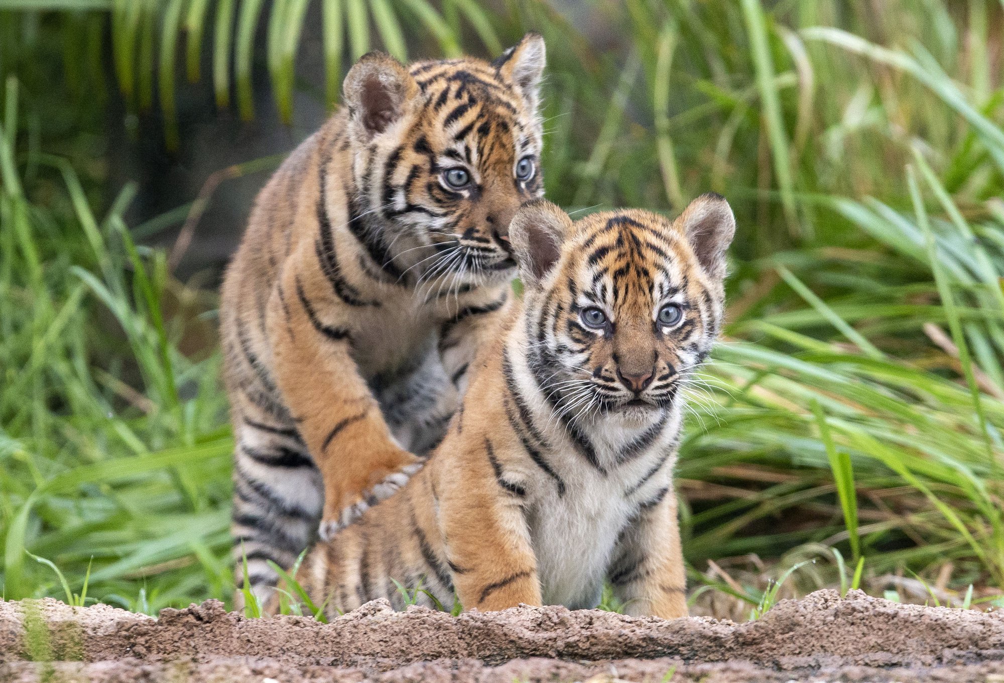
<path id="1" fill-rule="evenodd" d="M 350 354 L 350 318 L 325 299 L 316 258 L 293 257 L 269 299 L 268 332 L 276 384 L 320 470 L 326 540 L 404 485 L 422 460 L 388 429 Z"/>

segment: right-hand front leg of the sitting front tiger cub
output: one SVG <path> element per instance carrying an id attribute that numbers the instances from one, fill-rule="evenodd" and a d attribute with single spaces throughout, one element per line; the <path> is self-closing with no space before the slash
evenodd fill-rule
<path id="1" fill-rule="evenodd" d="M 643 503 L 613 557 L 608 579 L 626 614 L 664 619 L 687 616 L 687 577 L 672 483 Z"/>

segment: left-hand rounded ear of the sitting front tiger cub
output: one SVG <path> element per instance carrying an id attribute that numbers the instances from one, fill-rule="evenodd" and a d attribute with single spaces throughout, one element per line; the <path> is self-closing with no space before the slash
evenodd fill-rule
<path id="1" fill-rule="evenodd" d="M 540 283 L 561 256 L 571 219 L 547 200 L 527 202 L 509 224 L 509 240 L 524 284 Z"/>

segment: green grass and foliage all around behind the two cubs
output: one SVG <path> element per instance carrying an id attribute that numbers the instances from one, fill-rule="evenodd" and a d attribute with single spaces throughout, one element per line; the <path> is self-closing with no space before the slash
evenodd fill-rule
<path id="1" fill-rule="evenodd" d="M 229 104 L 219 50 L 236 50 L 251 115 L 256 3 L 197 4 L 166 4 L 167 25 L 201 30 L 229 8 L 243 29 L 214 31 L 216 95 Z M 303 3 L 275 4 L 266 66 L 285 116 Z M 883 595 L 911 573 L 954 604 L 1001 591 L 1004 89 L 985 56 L 1001 49 L 1000 5 L 625 0 L 596 6 L 620 40 L 600 52 L 545 3 L 443 3 L 425 38 L 431 6 L 406 4 L 415 26 L 400 30 L 389 3 L 325 12 L 325 63 L 343 71 L 364 39 L 400 50 L 402 31 L 414 55 L 538 30 L 552 200 L 672 215 L 715 190 L 736 211 L 725 340 L 689 392 L 678 468 L 695 599 L 722 591 L 748 615 L 821 586 Z M 384 30 L 365 35 L 370 20 Z M 0 11 L 3 591 L 156 612 L 231 595 L 231 440 L 215 293 L 137 244 L 166 221 L 131 230 L 134 189 L 113 194 L 100 170 L 95 140 L 120 124 L 99 105 L 92 45 L 108 21 Z M 185 87 L 155 92 L 151 74 L 191 48 L 172 55 L 140 13 L 111 23 L 128 101 Z M 72 78 L 53 87 L 64 64 Z M 745 556 L 763 567 L 706 569 Z"/>

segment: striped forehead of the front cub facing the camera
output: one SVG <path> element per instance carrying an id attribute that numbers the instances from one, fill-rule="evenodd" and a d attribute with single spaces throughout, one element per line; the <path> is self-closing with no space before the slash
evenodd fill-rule
<path id="1" fill-rule="evenodd" d="M 699 286 L 700 267 L 686 237 L 658 214 L 592 214 L 573 225 L 570 237 L 565 274 L 587 299 L 663 300 Z"/>

